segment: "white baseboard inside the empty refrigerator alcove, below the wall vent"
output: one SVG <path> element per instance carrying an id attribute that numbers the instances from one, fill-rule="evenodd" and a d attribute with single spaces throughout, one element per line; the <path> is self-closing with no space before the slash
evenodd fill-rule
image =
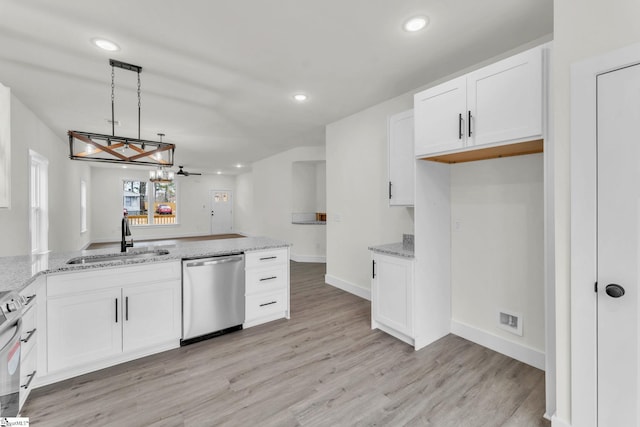
<path id="1" fill-rule="evenodd" d="M 451 320 L 451 333 L 544 371 L 544 352 Z"/>

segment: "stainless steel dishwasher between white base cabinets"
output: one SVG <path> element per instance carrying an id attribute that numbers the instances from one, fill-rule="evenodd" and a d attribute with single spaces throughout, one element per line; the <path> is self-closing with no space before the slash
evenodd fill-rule
<path id="1" fill-rule="evenodd" d="M 244 274 L 244 254 L 182 261 L 181 345 L 242 329 Z"/>

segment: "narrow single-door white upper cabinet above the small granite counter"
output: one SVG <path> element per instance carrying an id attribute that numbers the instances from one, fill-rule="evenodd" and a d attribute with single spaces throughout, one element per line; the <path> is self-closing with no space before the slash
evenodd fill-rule
<path id="1" fill-rule="evenodd" d="M 413 127 L 413 110 L 389 117 L 387 142 L 390 206 L 413 206 L 415 185 Z"/>

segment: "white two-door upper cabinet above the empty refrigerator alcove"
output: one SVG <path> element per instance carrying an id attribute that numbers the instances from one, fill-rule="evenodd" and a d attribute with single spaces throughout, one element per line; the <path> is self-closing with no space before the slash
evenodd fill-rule
<path id="1" fill-rule="evenodd" d="M 537 47 L 417 93 L 415 155 L 542 138 L 542 55 Z"/>

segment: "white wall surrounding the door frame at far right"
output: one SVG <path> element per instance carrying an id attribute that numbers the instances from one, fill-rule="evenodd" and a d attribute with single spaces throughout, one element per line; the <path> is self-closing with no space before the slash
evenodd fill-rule
<path id="1" fill-rule="evenodd" d="M 640 41 L 637 0 L 554 2 L 557 421 L 571 421 L 570 67 Z M 579 327 L 574 325 L 573 327 Z"/>

